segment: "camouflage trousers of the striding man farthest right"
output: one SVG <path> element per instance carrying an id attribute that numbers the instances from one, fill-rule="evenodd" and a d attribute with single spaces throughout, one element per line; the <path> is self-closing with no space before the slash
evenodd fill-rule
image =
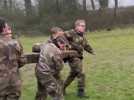
<path id="1" fill-rule="evenodd" d="M 78 92 L 85 90 L 85 74 L 83 73 L 82 68 L 82 59 L 80 58 L 72 58 L 69 60 L 70 73 L 64 81 L 64 90 L 69 86 L 72 81 L 77 78 L 78 79 Z"/>

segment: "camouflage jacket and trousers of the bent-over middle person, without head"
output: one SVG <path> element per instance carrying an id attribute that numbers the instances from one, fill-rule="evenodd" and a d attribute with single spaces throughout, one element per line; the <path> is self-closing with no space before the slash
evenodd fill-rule
<path id="1" fill-rule="evenodd" d="M 62 69 L 60 50 L 53 43 L 41 46 L 39 62 L 36 66 L 38 91 L 36 100 L 46 100 L 49 94 L 53 100 L 63 100 L 60 84 L 57 80 Z"/>

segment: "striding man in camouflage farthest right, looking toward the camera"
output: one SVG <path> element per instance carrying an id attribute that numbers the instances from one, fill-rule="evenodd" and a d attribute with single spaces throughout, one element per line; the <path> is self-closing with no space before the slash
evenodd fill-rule
<path id="1" fill-rule="evenodd" d="M 83 50 L 94 54 L 93 49 L 88 44 L 84 33 L 85 33 L 85 20 L 76 20 L 75 28 L 66 31 L 64 36 L 68 39 L 71 45 L 70 50 L 75 50 L 78 52 L 79 57 L 69 58 L 69 66 L 71 68 L 70 74 L 64 82 L 64 92 L 68 85 L 77 77 L 78 78 L 78 96 L 85 97 L 85 74 L 82 68 Z"/>

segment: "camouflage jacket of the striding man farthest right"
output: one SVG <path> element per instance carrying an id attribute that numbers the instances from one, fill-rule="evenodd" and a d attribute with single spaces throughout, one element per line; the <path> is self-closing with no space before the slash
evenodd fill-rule
<path id="1" fill-rule="evenodd" d="M 85 36 L 77 34 L 77 32 L 73 29 L 66 31 L 64 35 L 68 39 L 71 49 L 76 50 L 81 57 L 83 56 L 83 50 L 86 50 L 91 54 L 93 53 L 93 49 L 88 44 Z"/>

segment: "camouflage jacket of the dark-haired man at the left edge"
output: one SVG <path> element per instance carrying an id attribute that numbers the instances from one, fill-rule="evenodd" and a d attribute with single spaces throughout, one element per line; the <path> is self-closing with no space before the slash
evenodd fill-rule
<path id="1" fill-rule="evenodd" d="M 17 40 L 0 36 L 0 77 L 19 72 L 22 53 L 23 48 Z"/>

